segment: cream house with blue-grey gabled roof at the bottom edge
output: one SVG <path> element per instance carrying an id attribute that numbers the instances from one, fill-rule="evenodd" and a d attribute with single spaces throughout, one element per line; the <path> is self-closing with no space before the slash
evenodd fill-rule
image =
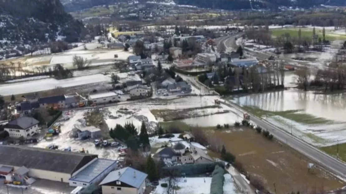
<path id="1" fill-rule="evenodd" d="M 144 194 L 147 174 L 126 167 L 110 172 L 99 184 L 103 194 Z"/>

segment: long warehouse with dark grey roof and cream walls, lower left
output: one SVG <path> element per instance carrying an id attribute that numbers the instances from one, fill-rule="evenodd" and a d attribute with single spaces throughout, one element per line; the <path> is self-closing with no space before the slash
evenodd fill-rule
<path id="1" fill-rule="evenodd" d="M 25 166 L 29 177 L 65 183 L 97 158 L 97 155 L 79 152 L 0 145 L 0 166 L 13 167 L 15 171 Z"/>

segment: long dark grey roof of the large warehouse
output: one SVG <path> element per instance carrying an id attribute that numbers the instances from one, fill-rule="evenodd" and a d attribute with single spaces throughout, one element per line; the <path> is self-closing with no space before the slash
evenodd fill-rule
<path id="1" fill-rule="evenodd" d="M 72 174 L 97 155 L 52 149 L 0 145 L 0 164 Z"/>

